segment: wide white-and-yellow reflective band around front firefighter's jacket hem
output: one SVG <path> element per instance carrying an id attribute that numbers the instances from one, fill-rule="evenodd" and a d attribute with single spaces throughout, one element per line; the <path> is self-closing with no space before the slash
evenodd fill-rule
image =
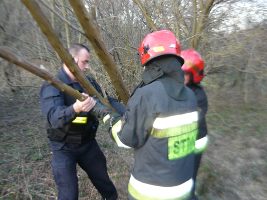
<path id="1" fill-rule="evenodd" d="M 172 187 L 163 187 L 140 182 L 131 175 L 128 190 L 136 199 L 146 200 L 181 200 L 189 197 L 193 186 L 193 179 Z"/>

